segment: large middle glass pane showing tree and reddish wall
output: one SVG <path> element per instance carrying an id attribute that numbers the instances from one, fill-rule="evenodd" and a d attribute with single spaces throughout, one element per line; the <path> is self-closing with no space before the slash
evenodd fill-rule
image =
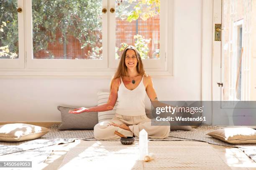
<path id="1" fill-rule="evenodd" d="M 102 0 L 32 0 L 34 59 L 102 59 Z"/>

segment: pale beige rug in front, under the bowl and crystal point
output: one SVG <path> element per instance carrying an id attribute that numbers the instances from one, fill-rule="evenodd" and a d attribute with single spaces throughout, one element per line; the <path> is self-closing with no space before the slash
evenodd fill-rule
<path id="1" fill-rule="evenodd" d="M 150 162 L 138 160 L 138 142 L 122 145 L 118 141 L 83 141 L 71 148 L 58 170 L 230 170 L 208 144 L 197 141 L 148 142 Z"/>

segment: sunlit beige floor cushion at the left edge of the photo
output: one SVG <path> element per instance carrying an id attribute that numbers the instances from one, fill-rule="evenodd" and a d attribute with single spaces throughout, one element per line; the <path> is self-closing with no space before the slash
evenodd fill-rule
<path id="1" fill-rule="evenodd" d="M 41 126 L 13 123 L 0 126 L 0 141 L 20 142 L 40 138 L 50 130 Z"/>

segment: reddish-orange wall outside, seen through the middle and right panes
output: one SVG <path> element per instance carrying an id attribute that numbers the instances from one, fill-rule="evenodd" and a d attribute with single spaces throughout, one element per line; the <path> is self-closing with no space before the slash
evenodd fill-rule
<path id="1" fill-rule="evenodd" d="M 146 21 L 138 19 L 138 34 L 142 35 L 144 38 L 151 38 L 151 42 L 149 43 L 149 52 L 148 56 L 151 57 L 155 52 L 155 49 L 159 48 L 159 39 L 160 39 L 160 23 L 159 16 L 155 16 L 153 18 L 149 18 Z M 129 23 L 126 20 L 116 20 L 116 46 L 120 47 L 121 42 L 126 42 L 129 45 L 134 45 L 133 36 L 136 35 L 136 21 L 132 21 Z M 61 37 L 61 32 L 56 33 L 56 41 L 54 43 L 48 44 L 48 49 L 54 59 L 64 59 L 64 44 L 60 43 L 58 40 Z M 92 50 L 92 46 L 88 45 L 81 49 L 81 44 L 79 40 L 75 37 L 67 35 L 67 59 L 90 59 L 90 55 L 88 55 L 88 51 Z M 98 47 L 100 47 L 99 45 Z M 119 55 L 121 52 L 118 53 Z M 45 50 L 40 50 L 34 53 L 35 59 L 46 59 L 51 58 L 49 53 L 46 53 Z"/>

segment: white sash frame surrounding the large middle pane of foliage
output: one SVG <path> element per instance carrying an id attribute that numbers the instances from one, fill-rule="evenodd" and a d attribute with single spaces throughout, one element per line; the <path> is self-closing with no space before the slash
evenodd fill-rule
<path id="1" fill-rule="evenodd" d="M 33 59 L 32 0 L 26 0 L 26 66 L 28 68 L 84 69 L 107 68 L 108 13 L 102 13 L 102 60 Z M 108 0 L 102 0 L 102 8 L 108 8 Z"/>

